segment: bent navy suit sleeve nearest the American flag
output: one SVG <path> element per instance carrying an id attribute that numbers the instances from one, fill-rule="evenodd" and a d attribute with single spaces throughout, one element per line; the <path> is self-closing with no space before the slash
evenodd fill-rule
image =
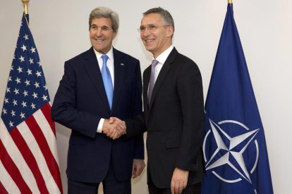
<path id="1" fill-rule="evenodd" d="M 64 75 L 51 107 L 51 118 L 80 134 L 95 137 L 100 117 L 76 108 L 76 73 L 72 64 L 65 62 Z"/>

